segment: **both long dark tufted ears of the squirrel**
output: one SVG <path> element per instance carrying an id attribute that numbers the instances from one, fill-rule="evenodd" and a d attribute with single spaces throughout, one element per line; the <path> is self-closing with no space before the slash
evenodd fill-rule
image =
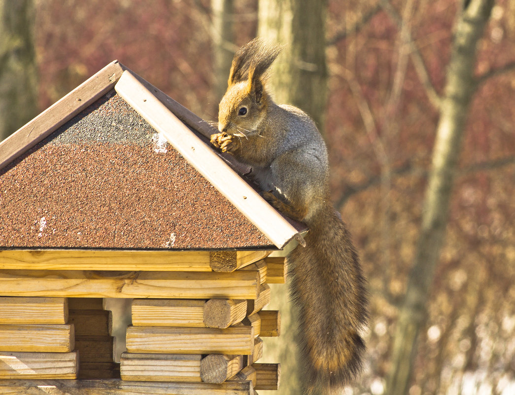
<path id="1" fill-rule="evenodd" d="M 261 79 L 280 51 L 279 46 L 265 45 L 259 38 L 255 38 L 239 48 L 232 60 L 228 80 L 229 87 L 246 80 L 251 83 L 251 74 L 255 80 Z"/>

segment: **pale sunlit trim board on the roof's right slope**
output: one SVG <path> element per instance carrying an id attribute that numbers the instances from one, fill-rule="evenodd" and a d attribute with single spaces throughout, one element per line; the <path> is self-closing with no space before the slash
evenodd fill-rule
<path id="1" fill-rule="evenodd" d="M 297 229 L 171 113 L 132 73 L 124 72 L 115 90 L 277 248 L 283 248 L 299 235 Z"/>

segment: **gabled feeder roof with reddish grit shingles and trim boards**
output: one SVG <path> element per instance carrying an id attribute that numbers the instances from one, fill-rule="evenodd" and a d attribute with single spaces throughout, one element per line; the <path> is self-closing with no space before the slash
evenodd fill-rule
<path id="1" fill-rule="evenodd" d="M 300 237 L 211 148 L 214 132 L 110 63 L 0 143 L 0 248 L 270 249 Z"/>

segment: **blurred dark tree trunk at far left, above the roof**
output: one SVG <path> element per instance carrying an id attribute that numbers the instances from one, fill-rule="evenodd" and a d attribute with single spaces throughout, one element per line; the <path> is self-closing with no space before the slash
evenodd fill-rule
<path id="1" fill-rule="evenodd" d="M 0 141 L 37 113 L 32 0 L 0 0 Z"/>

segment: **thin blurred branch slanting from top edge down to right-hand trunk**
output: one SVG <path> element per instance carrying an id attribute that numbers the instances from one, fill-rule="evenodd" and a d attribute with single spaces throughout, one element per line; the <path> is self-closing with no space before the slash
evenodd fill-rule
<path id="1" fill-rule="evenodd" d="M 401 15 L 397 12 L 397 10 L 391 5 L 389 0 L 381 0 L 381 7 L 383 10 L 390 16 L 390 18 L 397 24 L 399 28 L 402 28 L 403 22 Z M 429 73 L 427 72 L 427 68 L 425 66 L 424 59 L 422 58 L 422 54 L 420 50 L 413 41 L 413 36 L 409 31 L 406 31 L 406 37 L 408 38 L 408 43 L 411 49 L 411 60 L 413 61 L 413 65 L 415 66 L 415 71 L 422 82 L 422 85 L 425 89 L 426 95 L 428 99 L 431 101 L 431 104 L 438 108 L 441 104 L 441 97 L 436 91 L 433 83 L 431 82 L 431 78 L 429 77 Z"/>

